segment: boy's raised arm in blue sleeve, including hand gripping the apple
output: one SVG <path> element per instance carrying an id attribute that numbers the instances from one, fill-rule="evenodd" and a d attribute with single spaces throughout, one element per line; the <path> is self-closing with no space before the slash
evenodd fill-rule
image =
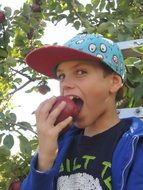
<path id="1" fill-rule="evenodd" d="M 58 155 L 58 137 L 60 132 L 71 123 L 72 118 L 54 125 L 58 115 L 65 107 L 62 102 L 55 110 L 50 112 L 55 97 L 40 104 L 35 112 L 36 126 L 39 140 L 38 154 L 33 157 L 29 175 L 22 182 L 20 190 L 53 190 L 55 167 L 53 167 Z"/>

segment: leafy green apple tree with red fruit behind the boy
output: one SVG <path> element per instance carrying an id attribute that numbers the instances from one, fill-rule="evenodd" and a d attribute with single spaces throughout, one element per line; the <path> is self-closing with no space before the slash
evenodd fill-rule
<path id="1" fill-rule="evenodd" d="M 62 20 L 77 33 L 100 33 L 116 42 L 143 38 L 142 0 L 91 0 L 86 5 L 78 0 L 25 0 L 14 12 L 10 7 L 0 8 L 0 190 L 27 175 L 37 149 L 36 127 L 17 119 L 11 98 L 28 86 L 25 93 L 50 90 L 48 77 L 28 68 L 24 58 L 43 45 L 46 23 L 58 28 Z M 127 78 L 119 107 L 143 105 L 143 46 L 133 52 L 138 56 L 124 57 Z M 17 140 L 19 151 L 13 155 Z"/>

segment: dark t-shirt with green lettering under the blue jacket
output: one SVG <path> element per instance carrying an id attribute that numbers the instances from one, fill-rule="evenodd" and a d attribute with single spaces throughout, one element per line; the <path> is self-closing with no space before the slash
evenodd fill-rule
<path id="1" fill-rule="evenodd" d="M 75 136 L 61 164 L 57 190 L 111 190 L 112 154 L 129 126 L 129 120 L 121 120 L 93 137 Z"/>

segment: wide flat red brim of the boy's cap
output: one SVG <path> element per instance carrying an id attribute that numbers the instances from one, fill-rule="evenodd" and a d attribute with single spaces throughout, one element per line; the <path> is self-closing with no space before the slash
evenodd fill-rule
<path id="1" fill-rule="evenodd" d="M 32 50 L 25 62 L 37 72 L 50 78 L 56 78 L 55 68 L 59 63 L 74 60 L 101 62 L 101 58 L 65 46 L 43 46 Z"/>

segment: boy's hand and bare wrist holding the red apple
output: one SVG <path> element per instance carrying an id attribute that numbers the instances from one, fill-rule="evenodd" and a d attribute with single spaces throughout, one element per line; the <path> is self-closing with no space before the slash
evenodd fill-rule
<path id="1" fill-rule="evenodd" d="M 50 112 L 55 101 L 56 97 L 52 97 L 42 102 L 35 112 L 39 139 L 37 169 L 40 171 L 46 171 L 52 167 L 58 152 L 58 136 L 72 121 L 72 117 L 68 117 L 54 125 L 58 115 L 66 106 L 66 102 L 61 102 L 57 108 Z"/>

